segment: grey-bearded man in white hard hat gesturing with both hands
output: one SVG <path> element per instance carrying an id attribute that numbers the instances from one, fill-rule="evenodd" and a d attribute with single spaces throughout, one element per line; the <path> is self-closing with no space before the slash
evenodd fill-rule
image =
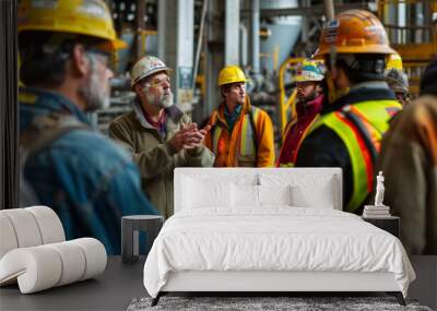
<path id="1" fill-rule="evenodd" d="M 141 58 L 131 71 L 135 93 L 132 110 L 116 118 L 109 136 L 128 147 L 140 167 L 142 186 L 162 215 L 173 215 L 175 167 L 208 167 L 214 155 L 203 145 L 210 127 L 199 130 L 174 105 L 165 63 L 153 56 Z"/>

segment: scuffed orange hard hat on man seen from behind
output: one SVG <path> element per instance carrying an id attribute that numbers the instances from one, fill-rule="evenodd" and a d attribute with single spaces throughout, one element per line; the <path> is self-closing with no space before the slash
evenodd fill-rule
<path id="1" fill-rule="evenodd" d="M 334 48 L 336 53 L 382 53 L 390 48 L 386 29 L 373 13 L 366 10 L 349 10 L 328 22 L 320 35 L 316 58 L 323 58 Z"/>

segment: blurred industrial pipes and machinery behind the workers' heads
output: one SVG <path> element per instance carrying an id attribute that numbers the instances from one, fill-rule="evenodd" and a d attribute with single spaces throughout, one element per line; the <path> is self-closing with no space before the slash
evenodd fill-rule
<path id="1" fill-rule="evenodd" d="M 111 106 L 92 116 L 108 123 L 130 109 L 129 70 L 141 56 L 154 55 L 173 68 L 178 106 L 202 123 L 220 104 L 217 75 L 238 64 L 249 76 L 251 103 L 272 117 L 276 142 L 295 117 L 296 64 L 317 49 L 327 21 L 335 13 L 366 9 L 379 15 L 403 59 L 413 96 L 427 62 L 437 52 L 437 0 L 108 0 L 115 25 L 128 49 L 117 56 Z"/>

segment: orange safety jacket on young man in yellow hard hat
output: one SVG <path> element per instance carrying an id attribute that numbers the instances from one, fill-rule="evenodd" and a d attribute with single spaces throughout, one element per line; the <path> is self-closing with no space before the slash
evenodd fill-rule
<path id="1" fill-rule="evenodd" d="M 269 115 L 246 101 L 232 133 L 224 116 L 225 103 L 213 111 L 204 144 L 215 154 L 215 167 L 272 167 L 273 124 Z"/>

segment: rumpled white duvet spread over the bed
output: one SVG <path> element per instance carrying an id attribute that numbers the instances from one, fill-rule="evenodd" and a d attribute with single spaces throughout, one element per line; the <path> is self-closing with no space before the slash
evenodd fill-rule
<path id="1" fill-rule="evenodd" d="M 144 265 L 147 292 L 156 297 L 180 271 L 391 272 L 404 297 L 415 278 L 392 235 L 350 213 L 290 206 L 172 216 Z"/>

